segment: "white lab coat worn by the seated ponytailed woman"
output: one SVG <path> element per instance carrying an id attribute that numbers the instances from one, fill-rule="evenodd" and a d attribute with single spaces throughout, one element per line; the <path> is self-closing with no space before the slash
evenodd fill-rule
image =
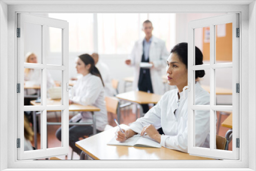
<path id="1" fill-rule="evenodd" d="M 91 73 L 79 78 L 74 85 L 74 97 L 72 101 L 81 105 L 93 105 L 100 109 L 99 112 L 94 112 L 96 116 L 96 129 L 104 131 L 104 127 L 108 124 L 108 116 L 104 101 L 104 88 L 101 79 Z M 71 97 L 71 91 L 70 91 Z M 74 116 L 73 122 L 92 122 L 91 112 L 81 112 Z"/>

